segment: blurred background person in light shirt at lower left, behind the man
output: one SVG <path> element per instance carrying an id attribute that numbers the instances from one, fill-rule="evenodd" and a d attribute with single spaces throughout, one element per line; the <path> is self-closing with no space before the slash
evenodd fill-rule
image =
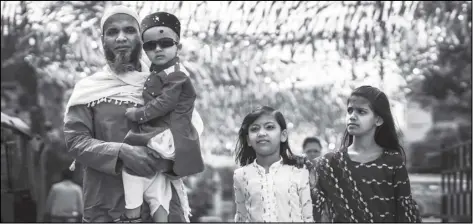
<path id="1" fill-rule="evenodd" d="M 81 187 L 72 181 L 73 172 L 62 172 L 62 181 L 54 184 L 46 201 L 49 222 L 80 222 L 84 202 Z"/>

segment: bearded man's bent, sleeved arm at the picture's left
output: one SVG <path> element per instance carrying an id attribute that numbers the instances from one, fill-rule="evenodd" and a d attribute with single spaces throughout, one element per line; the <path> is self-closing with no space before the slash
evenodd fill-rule
<path id="1" fill-rule="evenodd" d="M 123 143 L 105 142 L 92 137 L 92 112 L 85 105 L 69 108 L 64 119 L 64 136 L 69 154 L 85 166 L 118 175 L 122 164 L 118 159 Z"/>

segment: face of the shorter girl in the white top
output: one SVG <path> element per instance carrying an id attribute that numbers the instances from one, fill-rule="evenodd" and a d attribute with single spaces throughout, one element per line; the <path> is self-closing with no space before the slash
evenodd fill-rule
<path id="1" fill-rule="evenodd" d="M 272 114 L 263 114 L 248 128 L 248 145 L 259 156 L 279 154 L 281 142 L 287 141 L 287 130 L 281 130 Z"/>

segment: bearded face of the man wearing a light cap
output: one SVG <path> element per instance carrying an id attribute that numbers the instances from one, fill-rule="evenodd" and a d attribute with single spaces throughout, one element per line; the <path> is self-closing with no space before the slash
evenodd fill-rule
<path id="1" fill-rule="evenodd" d="M 105 57 L 115 72 L 136 70 L 141 39 L 138 22 L 132 16 L 119 13 L 107 19 L 102 43 Z"/>

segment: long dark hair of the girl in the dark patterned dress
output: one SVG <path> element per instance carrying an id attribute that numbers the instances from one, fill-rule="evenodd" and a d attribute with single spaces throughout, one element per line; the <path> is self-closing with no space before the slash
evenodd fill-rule
<path id="1" fill-rule="evenodd" d="M 376 127 L 374 135 L 376 144 L 386 150 L 397 151 L 401 153 L 401 156 L 405 161 L 406 153 L 399 142 L 393 115 L 391 113 L 391 107 L 389 106 L 389 100 L 386 94 L 376 87 L 360 86 L 351 93 L 351 96 L 347 100 L 347 104 L 350 103 L 350 99 L 353 96 L 359 96 L 367 99 L 370 103 L 370 108 L 376 115 L 383 119 L 383 124 L 379 127 Z M 348 131 L 345 129 L 341 145 L 342 148 L 347 148 L 352 144 L 352 142 L 353 136 L 348 134 Z"/>

